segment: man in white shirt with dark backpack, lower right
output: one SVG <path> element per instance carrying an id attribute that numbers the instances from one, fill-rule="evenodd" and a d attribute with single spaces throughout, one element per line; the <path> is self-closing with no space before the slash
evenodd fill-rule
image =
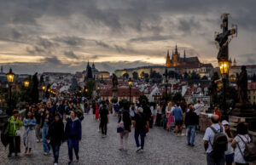
<path id="1" fill-rule="evenodd" d="M 218 115 L 212 115 L 212 128 L 214 128 L 217 132 L 220 132 L 220 127 L 223 129 L 224 133 L 224 127 L 222 125 L 218 124 Z M 223 153 L 215 153 L 212 150 L 212 144 L 214 139 L 214 132 L 211 127 L 208 127 L 206 130 L 206 133 L 204 135 L 204 147 L 207 151 L 207 165 L 224 165 L 225 164 L 225 154 Z"/>

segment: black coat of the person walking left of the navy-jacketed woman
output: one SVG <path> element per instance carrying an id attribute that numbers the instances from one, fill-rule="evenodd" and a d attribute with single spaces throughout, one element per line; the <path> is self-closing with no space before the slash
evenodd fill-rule
<path id="1" fill-rule="evenodd" d="M 49 125 L 48 134 L 45 138 L 50 139 L 51 145 L 61 145 L 61 142 L 63 142 L 65 139 L 63 122 L 52 122 Z"/>

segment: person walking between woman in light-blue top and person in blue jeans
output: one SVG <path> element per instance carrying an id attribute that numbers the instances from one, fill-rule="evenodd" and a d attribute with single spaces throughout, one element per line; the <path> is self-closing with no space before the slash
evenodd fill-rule
<path id="1" fill-rule="evenodd" d="M 37 120 L 37 125 L 35 127 L 36 131 L 36 137 L 37 137 L 37 142 L 39 143 L 42 140 L 42 129 L 41 125 L 43 123 L 43 117 L 44 117 L 44 109 L 42 107 L 42 104 L 38 104 L 38 110 L 35 113 L 35 118 Z"/>

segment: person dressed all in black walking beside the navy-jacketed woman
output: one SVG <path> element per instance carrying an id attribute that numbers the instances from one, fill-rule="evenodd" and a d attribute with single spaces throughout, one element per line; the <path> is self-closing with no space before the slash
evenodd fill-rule
<path id="1" fill-rule="evenodd" d="M 56 114 L 54 122 L 49 125 L 48 134 L 45 136 L 47 143 L 52 147 L 55 165 L 58 164 L 59 151 L 61 143 L 65 140 L 64 137 L 64 124 L 61 120 L 61 115 Z"/>

